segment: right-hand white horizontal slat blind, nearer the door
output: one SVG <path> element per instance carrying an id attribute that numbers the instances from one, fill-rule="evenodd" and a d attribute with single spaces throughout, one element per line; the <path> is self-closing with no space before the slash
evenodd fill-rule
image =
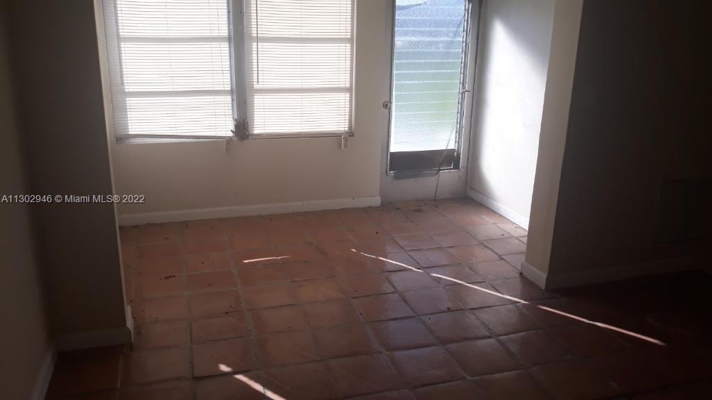
<path id="1" fill-rule="evenodd" d="M 248 127 L 351 131 L 353 0 L 245 0 Z"/>

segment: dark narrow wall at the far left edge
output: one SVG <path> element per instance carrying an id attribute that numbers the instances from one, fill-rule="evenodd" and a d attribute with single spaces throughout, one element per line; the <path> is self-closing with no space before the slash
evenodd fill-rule
<path id="1" fill-rule="evenodd" d="M 20 132 L 9 75 L 4 6 L 0 5 L 0 191 L 28 193 Z M 26 204 L 0 205 L 0 394 L 31 399 L 47 354 L 51 354 L 38 270 L 37 245 Z"/>

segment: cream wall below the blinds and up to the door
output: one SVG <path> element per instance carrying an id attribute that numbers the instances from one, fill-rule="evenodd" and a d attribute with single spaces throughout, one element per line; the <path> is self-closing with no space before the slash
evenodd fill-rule
<path id="1" fill-rule="evenodd" d="M 390 1 L 358 0 L 355 137 L 112 144 L 118 194 L 143 194 L 127 214 L 379 196 L 388 113 Z M 384 97 L 385 96 L 385 97 Z M 172 214 L 185 218 L 189 214 Z M 136 220 L 135 220 L 136 221 Z"/>

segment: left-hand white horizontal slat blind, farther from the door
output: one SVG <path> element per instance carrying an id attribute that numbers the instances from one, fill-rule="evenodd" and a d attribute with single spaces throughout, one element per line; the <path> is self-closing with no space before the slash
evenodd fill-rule
<path id="1" fill-rule="evenodd" d="M 226 0 L 104 2 L 117 137 L 231 135 Z"/>

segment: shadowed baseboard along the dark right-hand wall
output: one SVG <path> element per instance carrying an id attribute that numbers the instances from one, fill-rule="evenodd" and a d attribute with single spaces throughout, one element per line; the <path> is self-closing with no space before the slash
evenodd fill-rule
<path id="1" fill-rule="evenodd" d="M 668 260 L 655 260 L 646 263 L 619 265 L 613 268 L 600 268 L 583 270 L 573 273 L 545 274 L 529 263 L 522 263 L 523 275 L 536 283 L 540 288 L 559 289 L 572 286 L 593 285 L 595 283 L 612 282 L 635 278 L 643 275 L 657 275 L 661 273 L 675 273 L 684 270 L 698 269 L 700 265 L 694 258 L 672 258 Z"/>

